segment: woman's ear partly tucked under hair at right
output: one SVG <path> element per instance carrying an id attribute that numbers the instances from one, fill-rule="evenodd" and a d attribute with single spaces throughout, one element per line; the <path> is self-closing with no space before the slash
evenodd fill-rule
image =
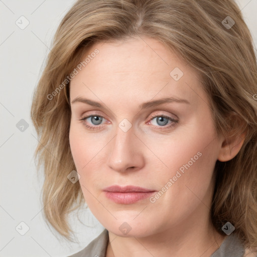
<path id="1" fill-rule="evenodd" d="M 233 113 L 230 117 L 230 129 L 226 136 L 223 136 L 221 148 L 218 155 L 220 162 L 233 159 L 240 151 L 245 140 L 245 122 L 239 121 L 239 116 Z"/>

